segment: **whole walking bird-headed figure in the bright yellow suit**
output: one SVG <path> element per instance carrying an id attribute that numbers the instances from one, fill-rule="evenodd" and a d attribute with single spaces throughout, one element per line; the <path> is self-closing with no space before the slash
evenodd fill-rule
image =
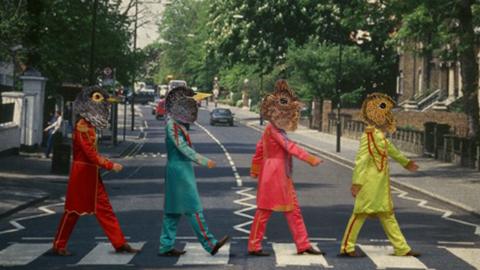
<path id="1" fill-rule="evenodd" d="M 407 244 L 393 212 L 388 157 L 409 171 L 415 172 L 418 169 L 414 161 L 406 158 L 385 137 L 385 133 L 393 133 L 396 129 L 391 112 L 394 106 L 395 102 L 381 93 L 368 95 L 362 104 L 362 116 L 368 126 L 360 140 L 360 149 L 355 159 L 351 187 L 355 206 L 341 242 L 341 256 L 363 256 L 355 251 L 355 243 L 367 217 L 380 219 L 383 230 L 394 247 L 394 255 L 420 256 Z"/>

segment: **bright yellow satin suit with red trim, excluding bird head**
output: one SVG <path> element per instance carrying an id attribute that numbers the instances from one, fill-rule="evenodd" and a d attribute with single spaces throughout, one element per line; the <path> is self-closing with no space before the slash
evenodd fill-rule
<path id="1" fill-rule="evenodd" d="M 395 249 L 395 255 L 405 255 L 411 250 L 393 213 L 389 156 L 403 167 L 410 162 L 385 138 L 382 131 L 368 126 L 360 140 L 360 149 L 355 158 L 352 176 L 353 184 L 361 186 L 361 189 L 355 198 L 353 214 L 345 230 L 340 253 L 350 253 L 355 250 L 358 233 L 369 216 L 380 219 Z"/>

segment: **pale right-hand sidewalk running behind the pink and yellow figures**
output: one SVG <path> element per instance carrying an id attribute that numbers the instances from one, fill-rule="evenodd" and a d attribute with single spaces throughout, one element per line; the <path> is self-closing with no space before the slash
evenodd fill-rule
<path id="1" fill-rule="evenodd" d="M 228 105 L 219 104 L 218 106 L 230 108 L 235 113 L 237 121 L 254 129 L 263 130 L 264 126 L 260 126 L 258 114 Z M 210 104 L 208 109 L 212 108 L 213 105 Z M 355 155 L 359 147 L 358 140 L 342 138 L 341 152 L 337 153 L 335 135 L 300 126 L 296 132 L 290 133 L 289 137 L 310 150 L 350 167 L 354 166 Z M 410 173 L 398 163 L 391 162 L 392 183 L 480 216 L 480 172 L 412 153 L 405 154 L 417 162 L 420 170 L 417 173 Z"/>

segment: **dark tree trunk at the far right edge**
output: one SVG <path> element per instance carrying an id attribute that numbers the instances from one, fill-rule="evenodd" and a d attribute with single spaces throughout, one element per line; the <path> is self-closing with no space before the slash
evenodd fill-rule
<path id="1" fill-rule="evenodd" d="M 480 139 L 478 105 L 478 63 L 475 48 L 475 35 L 472 23 L 472 4 L 474 1 L 462 0 L 458 3 L 459 19 L 459 58 L 462 75 L 464 109 L 468 117 L 468 136 Z M 480 141 L 480 140 L 479 140 Z"/>

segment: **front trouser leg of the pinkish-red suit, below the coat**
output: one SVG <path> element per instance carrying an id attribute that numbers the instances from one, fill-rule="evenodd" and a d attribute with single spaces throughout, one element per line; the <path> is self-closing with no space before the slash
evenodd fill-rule
<path id="1" fill-rule="evenodd" d="M 288 227 L 292 233 L 293 240 L 297 246 L 298 252 L 303 252 L 311 247 L 310 241 L 308 240 L 307 228 L 305 227 L 305 222 L 303 220 L 302 212 L 298 205 L 297 198 L 294 197 L 294 209 L 290 212 L 284 213 L 285 218 L 287 219 Z"/>

